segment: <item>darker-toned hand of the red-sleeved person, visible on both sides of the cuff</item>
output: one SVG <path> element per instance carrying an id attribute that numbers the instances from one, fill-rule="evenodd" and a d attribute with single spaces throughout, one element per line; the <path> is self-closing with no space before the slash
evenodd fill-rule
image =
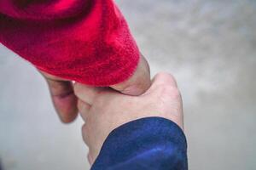
<path id="1" fill-rule="evenodd" d="M 49 85 L 51 98 L 55 105 L 55 110 L 62 122 L 73 122 L 78 115 L 77 98 L 73 94 L 73 83 L 60 77 L 55 77 L 40 71 Z M 111 88 L 130 95 L 143 94 L 150 86 L 150 73 L 147 60 L 142 56 L 137 66 L 137 71 L 133 76 Z"/>

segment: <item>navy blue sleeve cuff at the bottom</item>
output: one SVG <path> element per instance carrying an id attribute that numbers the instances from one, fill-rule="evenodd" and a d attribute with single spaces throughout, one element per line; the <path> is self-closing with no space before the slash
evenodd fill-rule
<path id="1" fill-rule="evenodd" d="M 92 170 L 187 170 L 187 143 L 176 123 L 160 117 L 128 122 L 108 135 Z"/>

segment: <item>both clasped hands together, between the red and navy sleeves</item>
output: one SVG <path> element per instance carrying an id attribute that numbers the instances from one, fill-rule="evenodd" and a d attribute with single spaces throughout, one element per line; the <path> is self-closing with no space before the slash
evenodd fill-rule
<path id="1" fill-rule="evenodd" d="M 84 120 L 82 135 L 89 147 L 88 161 L 96 160 L 113 129 L 143 117 L 158 116 L 183 129 L 182 99 L 172 75 L 159 73 L 150 81 L 148 63 L 143 57 L 137 71 L 127 81 L 95 88 L 42 72 L 49 85 L 55 109 L 62 122 Z M 128 95 L 127 95 L 128 94 Z"/>

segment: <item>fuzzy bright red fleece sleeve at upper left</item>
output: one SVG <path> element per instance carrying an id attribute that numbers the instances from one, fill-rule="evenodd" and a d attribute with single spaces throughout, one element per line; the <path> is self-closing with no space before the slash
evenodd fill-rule
<path id="1" fill-rule="evenodd" d="M 96 86 L 125 81 L 139 60 L 113 0 L 0 0 L 0 42 L 42 71 Z"/>

